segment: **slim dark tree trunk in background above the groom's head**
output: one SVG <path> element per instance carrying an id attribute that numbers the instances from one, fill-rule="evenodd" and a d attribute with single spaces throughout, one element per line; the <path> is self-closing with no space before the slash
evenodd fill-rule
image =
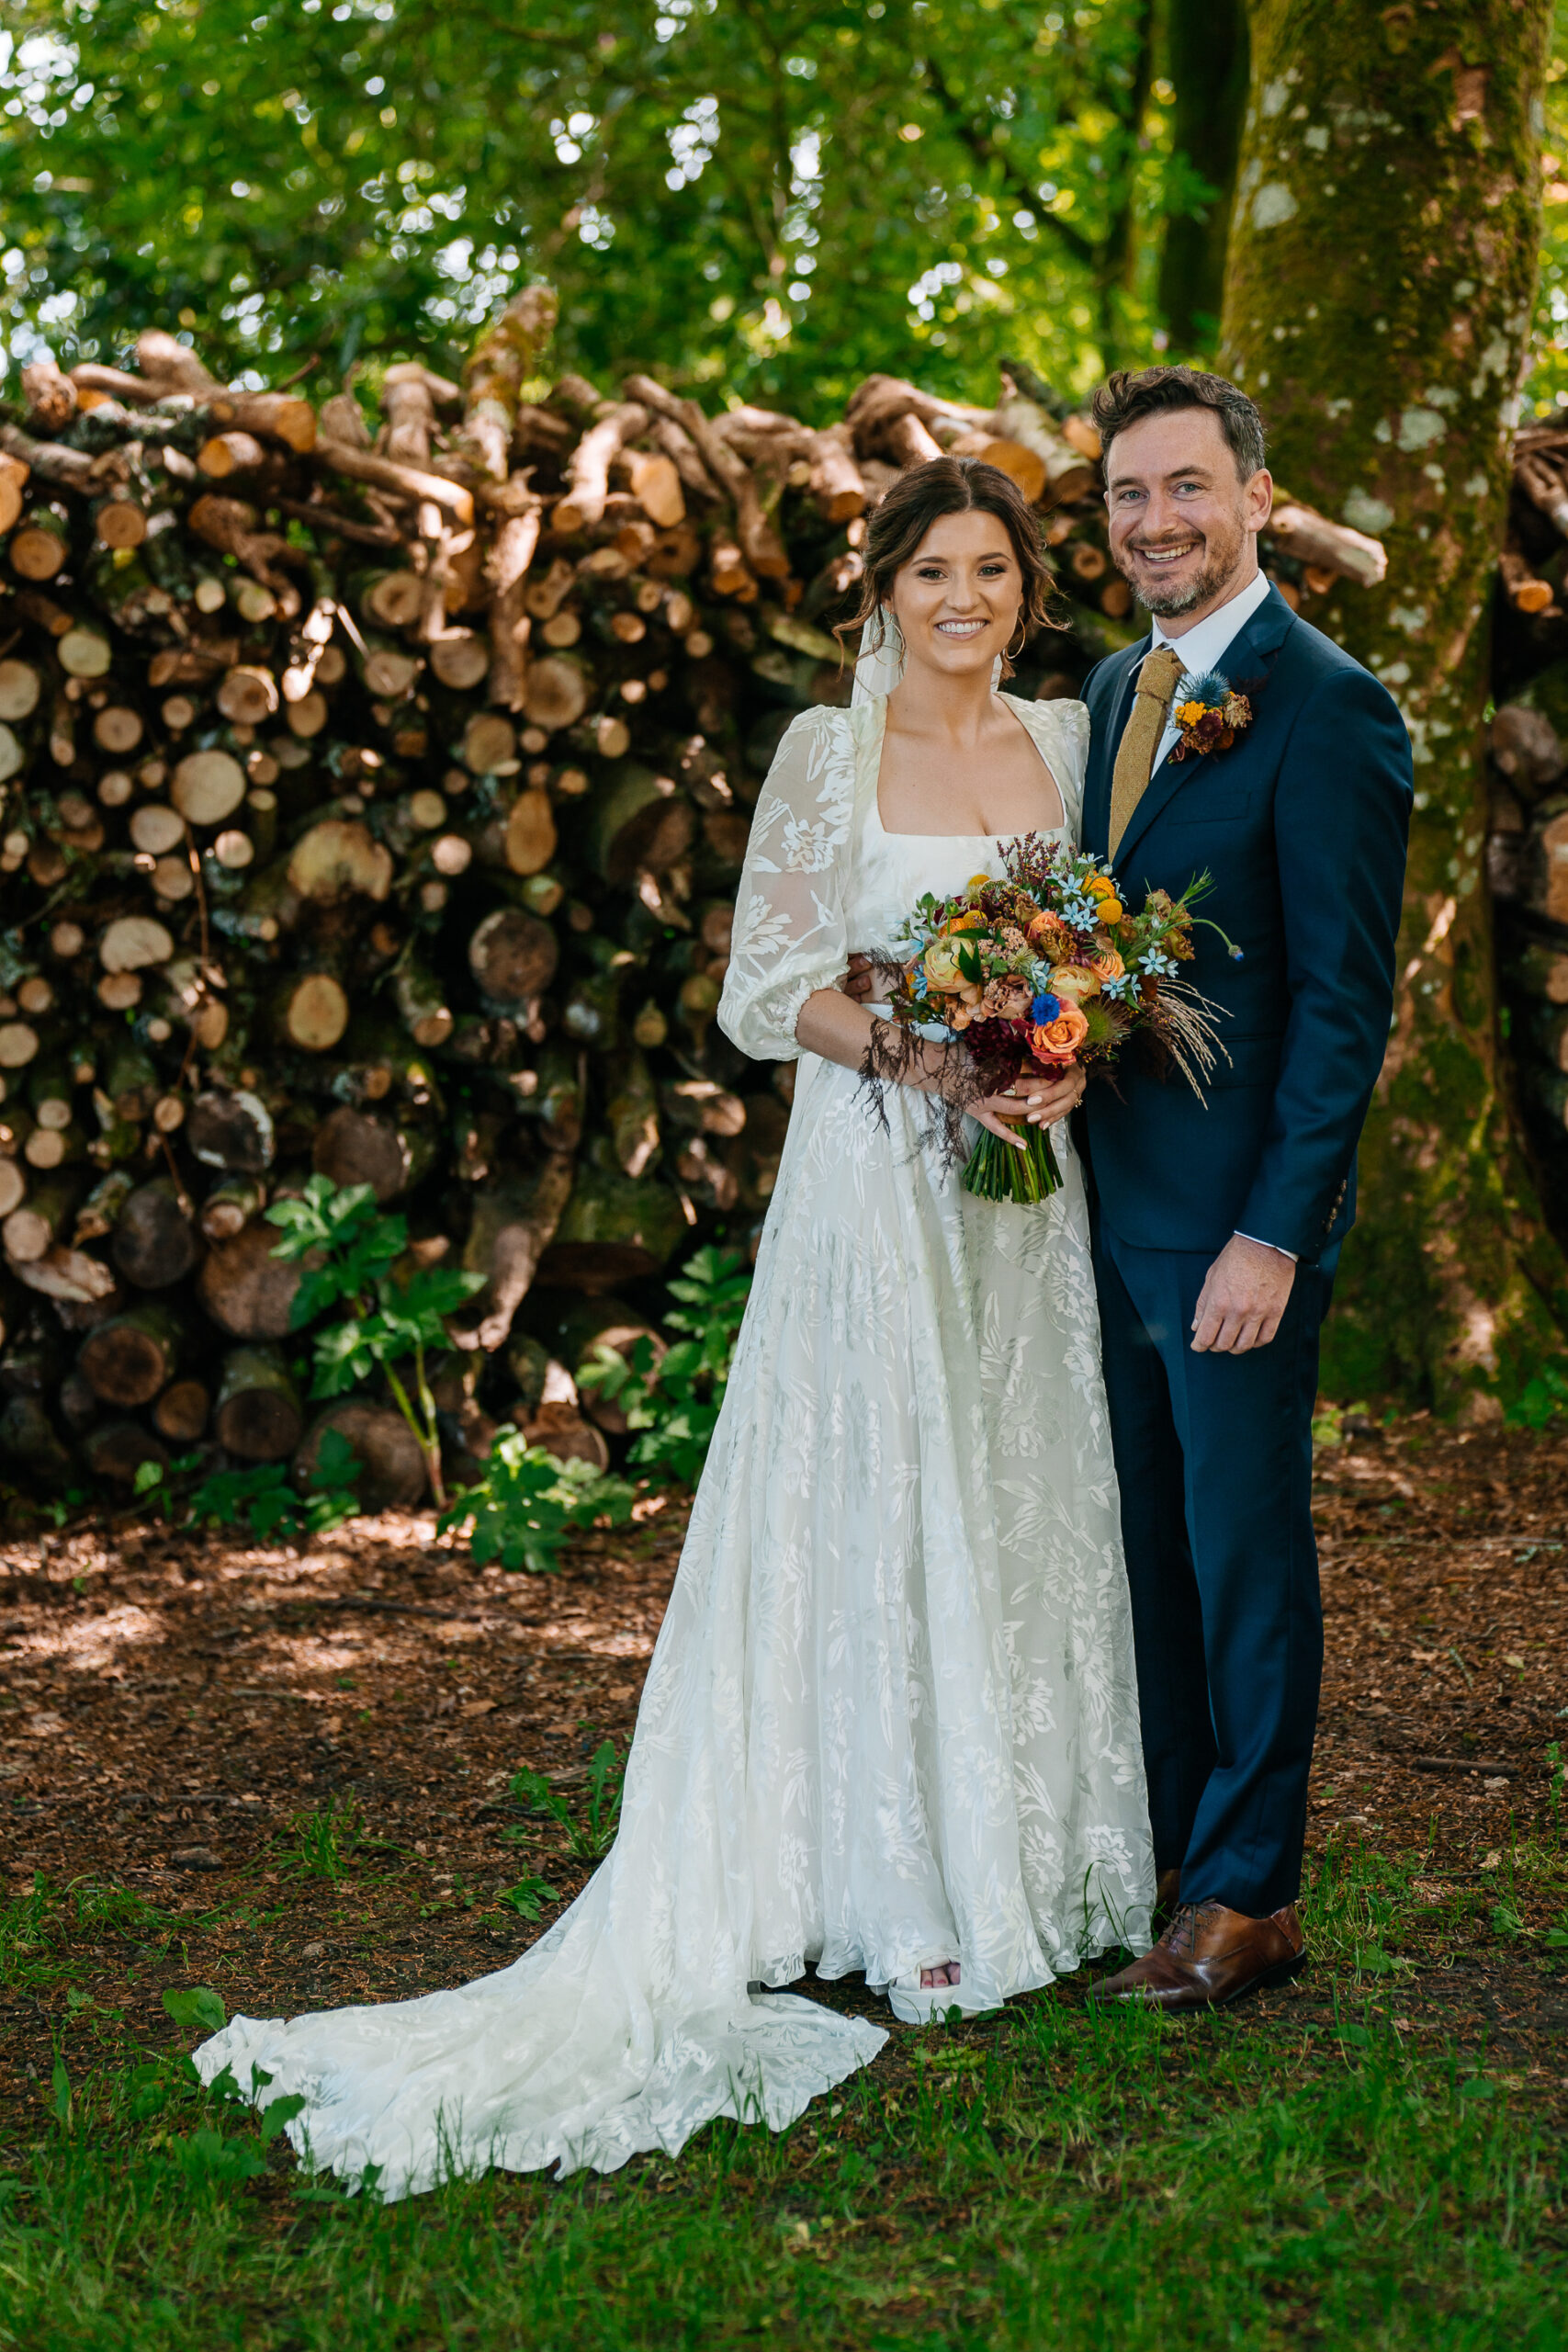
<path id="1" fill-rule="evenodd" d="M 1159 308 L 1171 332 L 1171 355 L 1211 353 L 1225 296 L 1225 247 L 1237 186 L 1237 153 L 1246 113 L 1246 0 L 1171 0 L 1166 16 L 1171 80 L 1171 143 L 1185 174 L 1211 195 L 1166 226 L 1159 256 Z"/>

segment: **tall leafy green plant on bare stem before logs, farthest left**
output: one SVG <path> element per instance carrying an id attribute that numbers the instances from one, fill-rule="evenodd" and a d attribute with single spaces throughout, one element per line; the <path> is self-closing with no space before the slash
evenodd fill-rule
<path id="1" fill-rule="evenodd" d="M 310 1395 L 341 1397 L 383 1371 L 425 1456 L 430 1494 L 437 1508 L 444 1505 L 442 1439 L 425 1364 L 451 1345 L 447 1315 L 484 1289 L 484 1275 L 465 1275 L 456 1265 L 409 1265 L 407 1218 L 388 1216 L 367 1183 L 334 1185 L 327 1176 L 310 1176 L 303 1197 L 277 1200 L 266 1216 L 282 1228 L 273 1256 L 306 1261 L 289 1308 L 292 1329 L 303 1331 L 331 1308 L 346 1310 L 315 1334 Z M 409 1362 L 414 1371 L 404 1383 L 397 1364 Z"/>

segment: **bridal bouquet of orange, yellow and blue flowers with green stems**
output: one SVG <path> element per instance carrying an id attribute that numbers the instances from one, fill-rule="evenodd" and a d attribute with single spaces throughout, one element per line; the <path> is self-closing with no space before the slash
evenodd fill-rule
<path id="1" fill-rule="evenodd" d="M 1001 851 L 1006 875 L 971 875 L 952 898 L 924 896 L 898 941 L 903 976 L 889 1016 L 898 1044 L 875 1033 L 867 1080 L 900 1075 L 917 1037 L 933 1023 L 964 1044 L 964 1080 L 950 1112 L 1018 1080 L 1060 1077 L 1110 1063 L 1128 1037 L 1147 1033 L 1194 1094 L 1215 1058 L 1215 1007 L 1178 976 L 1192 962 L 1194 903 L 1208 875 L 1180 898 L 1154 889 L 1133 915 L 1095 858 L 1074 856 L 1037 833 Z M 1218 927 L 1213 927 L 1218 929 Z M 1220 934 L 1225 936 L 1225 934 Z M 1234 957 L 1241 955 L 1225 941 Z M 959 1127 L 952 1117 L 950 1134 Z M 1046 1200 L 1060 1185 L 1051 1136 L 1023 1127 L 1025 1148 L 990 1129 L 964 1167 L 983 1200 Z"/>

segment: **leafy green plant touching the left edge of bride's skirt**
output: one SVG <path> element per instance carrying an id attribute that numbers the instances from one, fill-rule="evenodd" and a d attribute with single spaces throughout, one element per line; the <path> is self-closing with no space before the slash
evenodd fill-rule
<path id="1" fill-rule="evenodd" d="M 736 1336 L 752 1287 L 733 1249 L 698 1249 L 682 1268 L 684 1279 L 670 1284 L 682 1301 L 665 1315 L 672 1331 L 689 1334 L 661 1359 L 646 1338 L 635 1341 L 630 1362 L 618 1348 L 597 1348 L 595 1362 L 578 1371 L 581 1388 L 597 1390 L 607 1404 L 618 1404 L 628 1428 L 637 1430 L 630 1461 L 665 1472 L 682 1486 L 696 1486 L 708 1461 Z"/>

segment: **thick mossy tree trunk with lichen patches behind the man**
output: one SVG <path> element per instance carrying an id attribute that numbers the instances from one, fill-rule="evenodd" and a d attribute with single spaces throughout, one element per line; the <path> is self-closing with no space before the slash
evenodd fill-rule
<path id="1" fill-rule="evenodd" d="M 1387 541 L 1307 612 L 1410 727 L 1396 1014 L 1328 1331 L 1335 1390 L 1497 1414 L 1568 1270 L 1497 1073 L 1483 889 L 1488 614 L 1535 294 L 1549 0 L 1253 0 L 1220 367 L 1298 499 Z"/>

